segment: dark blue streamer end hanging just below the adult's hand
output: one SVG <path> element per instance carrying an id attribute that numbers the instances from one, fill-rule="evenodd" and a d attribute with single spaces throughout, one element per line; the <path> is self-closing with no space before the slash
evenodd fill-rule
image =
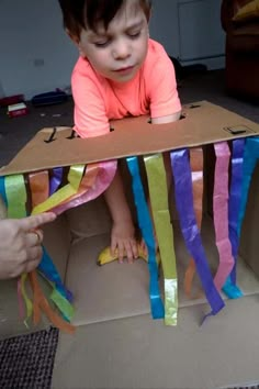
<path id="1" fill-rule="evenodd" d="M 47 280 L 55 285 L 60 294 L 63 294 L 68 301 L 72 301 L 72 293 L 64 286 L 56 266 L 54 265 L 45 247 L 43 247 L 43 257 L 37 269 L 43 273 Z"/>

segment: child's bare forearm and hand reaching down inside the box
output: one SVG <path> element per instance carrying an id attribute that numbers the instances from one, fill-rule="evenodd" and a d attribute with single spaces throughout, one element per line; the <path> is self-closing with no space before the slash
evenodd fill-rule
<path id="1" fill-rule="evenodd" d="M 138 257 L 138 249 L 135 240 L 135 229 L 119 170 L 106 189 L 104 197 L 113 220 L 111 235 L 112 255 L 117 248 L 119 262 L 122 263 L 124 253 L 126 253 L 127 260 L 132 263 L 134 258 Z"/>

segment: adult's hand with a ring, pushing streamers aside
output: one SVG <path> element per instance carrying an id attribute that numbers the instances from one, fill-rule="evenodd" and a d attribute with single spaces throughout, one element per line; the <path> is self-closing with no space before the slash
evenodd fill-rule
<path id="1" fill-rule="evenodd" d="M 47 212 L 24 219 L 0 220 L 0 279 L 32 271 L 43 255 L 42 224 L 56 219 Z"/>

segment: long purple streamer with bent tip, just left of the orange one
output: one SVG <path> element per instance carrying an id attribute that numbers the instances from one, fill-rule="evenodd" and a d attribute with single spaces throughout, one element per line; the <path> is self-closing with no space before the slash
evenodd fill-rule
<path id="1" fill-rule="evenodd" d="M 171 152 L 170 158 L 174 177 L 176 202 L 180 216 L 181 231 L 187 247 L 195 260 L 196 271 L 200 276 L 206 299 L 212 308 L 212 312 L 205 315 L 206 318 L 221 311 L 224 307 L 224 301 L 213 282 L 206 255 L 202 246 L 201 235 L 195 222 L 188 149 Z"/>

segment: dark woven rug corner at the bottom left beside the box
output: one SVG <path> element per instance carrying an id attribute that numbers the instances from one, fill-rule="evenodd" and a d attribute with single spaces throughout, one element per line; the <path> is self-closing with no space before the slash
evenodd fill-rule
<path id="1" fill-rule="evenodd" d="M 57 343 L 56 329 L 0 342 L 0 388 L 50 388 Z"/>

